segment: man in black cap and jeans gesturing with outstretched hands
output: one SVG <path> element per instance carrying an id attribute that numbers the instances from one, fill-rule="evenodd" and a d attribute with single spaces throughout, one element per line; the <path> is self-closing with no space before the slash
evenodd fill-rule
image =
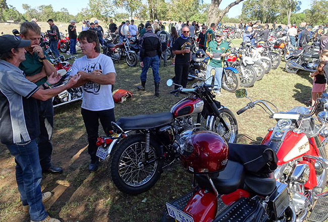
<path id="1" fill-rule="evenodd" d="M 20 40 L 13 35 L 0 36 L 0 139 L 15 156 L 16 182 L 21 195 L 23 209 L 30 213 L 31 222 L 60 222 L 50 218 L 42 202 L 51 198 L 51 192 L 41 194 L 42 179 L 38 147 L 35 142 L 40 133 L 37 99 L 47 100 L 69 89 L 80 78 L 74 76 L 60 87 L 48 89 L 28 81 L 18 68 L 25 60 L 25 48 L 29 40 Z M 51 85 L 60 76 L 50 75 L 47 82 Z"/>

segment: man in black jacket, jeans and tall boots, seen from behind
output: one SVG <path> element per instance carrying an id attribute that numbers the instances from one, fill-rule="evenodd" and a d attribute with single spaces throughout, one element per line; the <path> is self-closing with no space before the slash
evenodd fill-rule
<path id="1" fill-rule="evenodd" d="M 138 86 L 138 90 L 145 91 L 145 84 L 147 79 L 147 71 L 151 66 L 152 75 L 154 76 L 155 83 L 155 95 L 159 96 L 159 57 L 161 55 L 161 43 L 158 35 L 151 31 L 151 24 L 147 22 L 145 24 L 146 33 L 139 39 L 140 49 L 140 66 L 142 71 L 140 74 L 141 86 Z"/>

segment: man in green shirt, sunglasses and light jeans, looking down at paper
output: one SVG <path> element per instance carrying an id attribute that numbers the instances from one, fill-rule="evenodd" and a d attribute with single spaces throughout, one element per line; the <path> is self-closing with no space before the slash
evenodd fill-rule
<path id="1" fill-rule="evenodd" d="M 223 40 L 223 31 L 218 30 L 215 32 L 215 39 L 208 43 L 206 54 L 209 56 L 209 61 L 206 70 L 206 84 L 212 83 L 210 72 L 215 70 L 214 85 L 218 90 L 214 90 L 217 96 L 221 96 L 221 80 L 224 68 L 224 59 L 230 54 L 229 44 Z"/>

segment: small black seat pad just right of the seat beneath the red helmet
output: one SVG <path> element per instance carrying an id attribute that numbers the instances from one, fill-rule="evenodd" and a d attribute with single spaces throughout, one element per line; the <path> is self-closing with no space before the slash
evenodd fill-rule
<path id="1" fill-rule="evenodd" d="M 268 177 L 259 177 L 253 174 L 245 176 L 245 190 L 251 190 L 257 194 L 269 195 L 276 188 L 276 179 L 274 173 L 268 174 Z"/>

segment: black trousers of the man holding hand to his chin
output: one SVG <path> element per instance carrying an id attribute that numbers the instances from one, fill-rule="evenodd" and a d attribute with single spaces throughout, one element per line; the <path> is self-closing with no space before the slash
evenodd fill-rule
<path id="1" fill-rule="evenodd" d="M 52 153 L 52 131 L 53 131 L 53 106 L 52 98 L 41 101 L 37 100 L 39 108 L 40 135 L 36 138 L 39 151 L 40 165 L 42 171 L 49 169 Z"/>

